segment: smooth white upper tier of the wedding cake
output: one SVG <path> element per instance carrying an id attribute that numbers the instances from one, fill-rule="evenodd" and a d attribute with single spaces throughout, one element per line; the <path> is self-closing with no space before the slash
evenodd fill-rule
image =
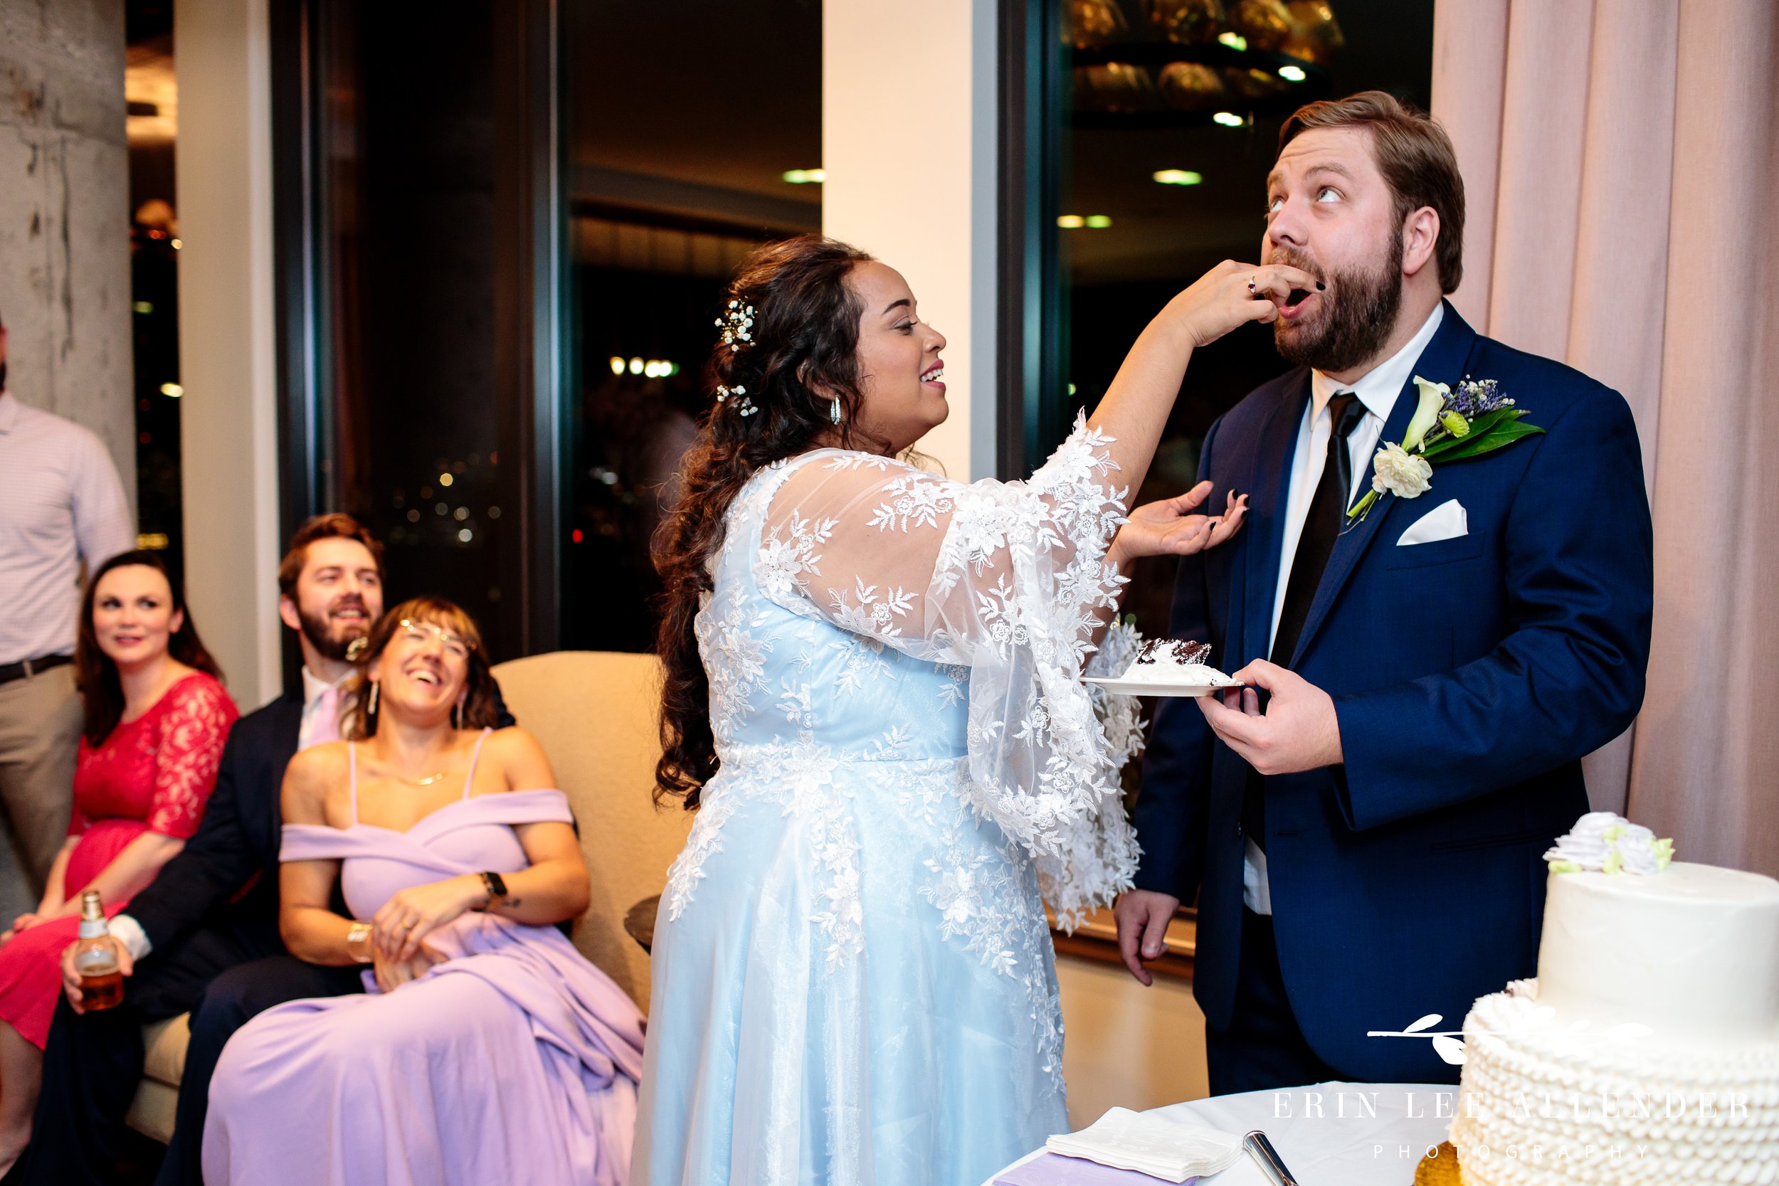
<path id="1" fill-rule="evenodd" d="M 1539 1003 L 1656 1044 L 1779 1040 L 1779 882 L 1683 862 L 1551 873 Z"/>

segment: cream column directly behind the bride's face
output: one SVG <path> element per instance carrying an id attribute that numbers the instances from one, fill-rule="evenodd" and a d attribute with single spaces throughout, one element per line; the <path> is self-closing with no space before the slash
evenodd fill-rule
<path id="1" fill-rule="evenodd" d="M 920 448 L 966 480 L 994 477 L 996 28 L 994 0 L 822 5 L 822 229 L 946 336 L 952 418 Z"/>

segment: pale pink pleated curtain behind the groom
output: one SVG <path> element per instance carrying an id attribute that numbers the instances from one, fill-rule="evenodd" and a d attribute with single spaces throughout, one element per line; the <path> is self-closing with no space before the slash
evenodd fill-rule
<path id="1" fill-rule="evenodd" d="M 1453 302 L 1617 388 L 1656 523 L 1649 693 L 1594 804 L 1779 873 L 1779 5 L 1437 0 Z M 1576 491 L 1576 496 L 1587 496 Z"/>

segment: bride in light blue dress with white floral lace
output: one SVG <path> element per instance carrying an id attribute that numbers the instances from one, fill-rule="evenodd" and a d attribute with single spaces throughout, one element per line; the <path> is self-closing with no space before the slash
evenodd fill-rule
<path id="1" fill-rule="evenodd" d="M 1220 265 L 1144 331 L 1028 482 L 897 455 L 946 416 L 945 338 L 870 256 L 738 274 L 717 407 L 660 539 L 664 795 L 697 820 L 653 950 L 635 1186 L 977 1186 L 1067 1129 L 1044 900 L 1128 887 L 1130 706 L 1080 683 L 1140 555 L 1228 539 L 1130 512 L 1195 345 L 1272 320 Z M 1123 525 L 1123 526 L 1121 526 Z"/>

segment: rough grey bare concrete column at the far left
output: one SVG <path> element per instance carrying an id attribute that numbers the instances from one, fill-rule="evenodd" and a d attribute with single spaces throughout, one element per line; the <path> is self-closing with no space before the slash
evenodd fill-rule
<path id="1" fill-rule="evenodd" d="M 0 0 L 7 386 L 110 448 L 135 505 L 123 0 Z"/>

